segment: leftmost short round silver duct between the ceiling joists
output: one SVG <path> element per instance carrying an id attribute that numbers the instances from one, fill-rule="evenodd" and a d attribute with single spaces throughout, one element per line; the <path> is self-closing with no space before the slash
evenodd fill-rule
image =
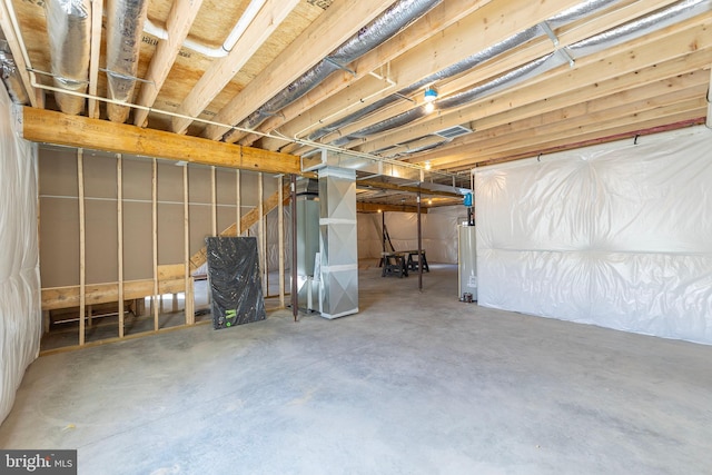
<path id="1" fill-rule="evenodd" d="M 89 79 L 91 1 L 48 0 L 44 13 L 55 86 L 85 93 Z M 65 113 L 78 115 L 85 109 L 82 97 L 56 93 L 55 100 Z"/>

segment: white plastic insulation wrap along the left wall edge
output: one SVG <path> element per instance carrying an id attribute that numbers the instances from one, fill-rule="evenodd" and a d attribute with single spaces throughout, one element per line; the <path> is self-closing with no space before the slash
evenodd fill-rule
<path id="1" fill-rule="evenodd" d="M 37 146 L 12 130 L 0 88 L 0 423 L 38 355 L 42 314 L 37 239 Z"/>

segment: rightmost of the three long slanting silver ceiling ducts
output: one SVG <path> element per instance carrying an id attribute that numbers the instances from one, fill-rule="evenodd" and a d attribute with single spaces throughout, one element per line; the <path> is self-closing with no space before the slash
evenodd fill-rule
<path id="1" fill-rule="evenodd" d="M 605 7 L 610 3 L 612 2 L 599 0 L 594 2 L 587 2 L 585 4 L 580 4 L 577 7 L 574 7 L 571 10 L 566 10 L 561 14 L 548 19 L 547 23 L 555 24 L 557 27 L 562 24 L 566 24 L 575 19 L 581 18 L 581 14 L 584 14 L 584 16 L 590 14 L 592 11 L 597 10 L 602 7 Z M 553 53 L 546 55 L 534 61 L 531 61 L 492 81 L 476 86 L 458 95 L 454 95 L 448 98 L 435 101 L 434 102 L 435 109 L 447 110 L 447 109 L 465 106 L 486 95 L 491 95 L 496 91 L 503 90 L 505 88 L 512 87 L 518 82 L 524 81 L 525 79 L 532 78 L 534 76 L 538 76 L 555 67 L 562 66 L 565 62 L 568 62 L 571 58 L 574 58 L 574 59 L 582 58 L 584 56 L 587 56 L 597 51 L 602 51 L 606 48 L 611 48 L 613 46 L 620 44 L 624 41 L 639 38 L 653 30 L 668 27 L 672 23 L 683 21 L 688 18 L 692 18 L 693 16 L 708 11 L 710 10 L 711 6 L 712 6 L 712 0 L 679 1 L 672 4 L 671 7 L 660 9 L 653 13 L 645 16 L 642 19 L 630 21 L 617 28 L 613 28 L 603 33 L 593 36 L 589 39 L 567 46 L 564 48 L 564 51 L 556 50 Z M 512 40 L 512 38 L 510 40 Z M 505 40 L 505 42 L 516 44 L 516 41 L 510 41 L 510 40 Z M 501 53 L 506 51 L 506 49 L 501 47 L 501 44 L 503 43 L 498 43 L 495 47 L 491 48 L 491 50 L 493 50 L 492 52 L 494 53 L 494 51 L 497 51 L 497 53 Z M 510 44 L 510 47 L 512 47 L 512 44 Z M 403 127 L 425 116 L 426 116 L 426 112 L 424 108 L 417 107 L 406 112 L 403 112 L 400 115 L 397 115 L 395 117 L 392 117 L 389 119 L 382 120 L 380 122 L 359 129 L 353 133 L 349 133 L 346 137 L 342 137 L 337 140 L 334 140 L 333 142 L 330 142 L 330 145 L 340 147 L 355 139 L 365 138 L 374 133 L 379 133 L 397 127 Z M 343 125 L 340 127 L 343 127 Z"/>

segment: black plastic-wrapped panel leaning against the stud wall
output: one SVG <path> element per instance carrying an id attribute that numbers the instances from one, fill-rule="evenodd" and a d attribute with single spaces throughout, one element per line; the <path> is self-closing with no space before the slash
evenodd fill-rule
<path id="1" fill-rule="evenodd" d="M 257 238 L 208 237 L 208 278 L 212 327 L 227 328 L 264 320 Z"/>

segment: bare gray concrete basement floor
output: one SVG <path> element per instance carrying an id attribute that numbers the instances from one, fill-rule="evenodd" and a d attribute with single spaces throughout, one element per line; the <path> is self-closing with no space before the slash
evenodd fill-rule
<path id="1" fill-rule="evenodd" d="M 44 356 L 3 448 L 80 474 L 710 474 L 712 347 L 457 301 L 360 270 L 360 313 L 280 310 Z"/>

